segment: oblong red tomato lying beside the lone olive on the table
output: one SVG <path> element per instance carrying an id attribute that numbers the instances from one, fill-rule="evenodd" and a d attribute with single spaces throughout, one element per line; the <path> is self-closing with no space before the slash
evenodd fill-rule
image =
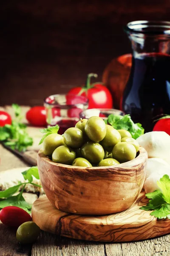
<path id="1" fill-rule="evenodd" d="M 31 221 L 31 216 L 25 210 L 16 206 L 7 206 L 0 211 L 0 220 L 8 227 L 20 227 L 26 221 Z"/>

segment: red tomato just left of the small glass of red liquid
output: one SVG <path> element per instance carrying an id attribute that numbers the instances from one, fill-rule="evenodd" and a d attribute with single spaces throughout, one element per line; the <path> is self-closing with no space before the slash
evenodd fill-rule
<path id="1" fill-rule="evenodd" d="M 42 106 L 30 108 L 26 113 L 26 119 L 31 125 L 45 126 L 46 125 L 46 111 Z"/>

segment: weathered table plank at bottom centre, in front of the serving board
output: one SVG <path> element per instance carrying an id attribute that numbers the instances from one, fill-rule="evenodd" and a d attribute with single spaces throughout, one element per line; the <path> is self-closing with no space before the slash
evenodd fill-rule
<path id="1" fill-rule="evenodd" d="M 31 256 L 105 256 L 104 244 L 67 239 L 41 232 Z"/>

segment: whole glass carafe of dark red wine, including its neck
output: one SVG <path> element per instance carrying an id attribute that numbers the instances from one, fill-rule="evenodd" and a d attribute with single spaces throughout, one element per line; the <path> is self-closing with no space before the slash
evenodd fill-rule
<path id="1" fill-rule="evenodd" d="M 170 22 L 133 21 L 125 31 L 133 58 L 122 110 L 148 132 L 156 116 L 170 114 Z"/>

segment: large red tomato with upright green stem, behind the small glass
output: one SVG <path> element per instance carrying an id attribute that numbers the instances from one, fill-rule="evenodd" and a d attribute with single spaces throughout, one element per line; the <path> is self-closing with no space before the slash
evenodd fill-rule
<path id="1" fill-rule="evenodd" d="M 101 83 L 90 84 L 90 78 L 96 74 L 88 74 L 85 87 L 75 87 L 68 94 L 79 94 L 88 97 L 88 108 L 113 108 L 113 99 L 107 87 Z"/>

